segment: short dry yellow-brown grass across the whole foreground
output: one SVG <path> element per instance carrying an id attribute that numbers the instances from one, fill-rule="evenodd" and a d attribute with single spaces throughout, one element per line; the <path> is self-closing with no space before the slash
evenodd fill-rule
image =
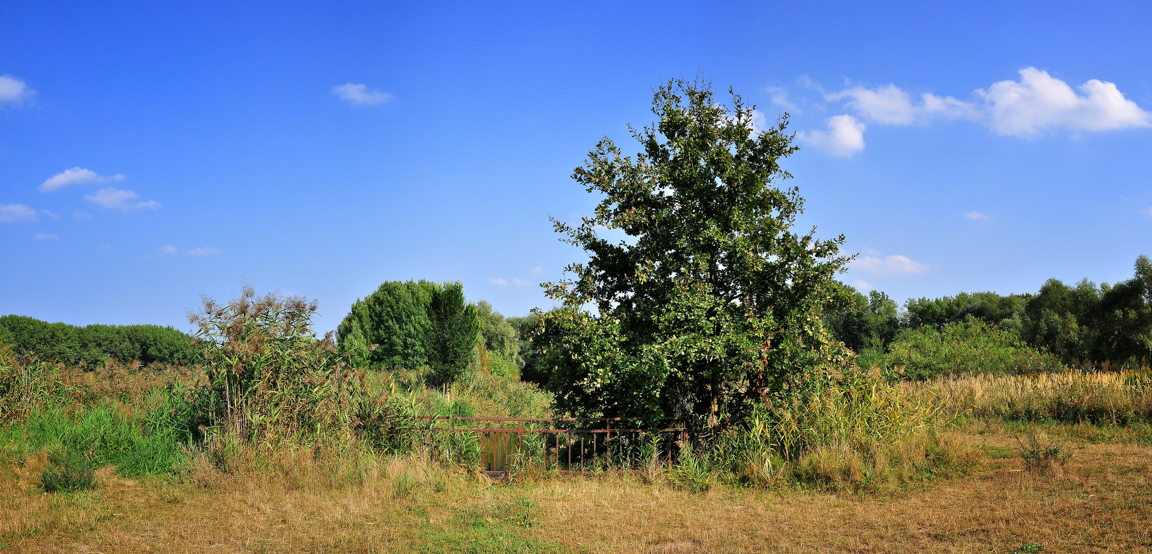
<path id="1" fill-rule="evenodd" d="M 0 552 L 1152 552 L 1152 448 L 1077 443 L 1062 471 L 1030 475 L 998 424 L 956 439 L 988 453 L 978 469 L 884 498 L 488 483 L 404 460 L 347 484 L 308 456 L 183 483 L 104 470 L 97 491 L 65 496 L 39 491 L 46 460 L 31 458 L 0 469 Z"/>

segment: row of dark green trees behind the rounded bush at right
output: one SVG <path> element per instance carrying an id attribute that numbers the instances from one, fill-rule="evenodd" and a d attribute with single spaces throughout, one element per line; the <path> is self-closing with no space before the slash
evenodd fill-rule
<path id="1" fill-rule="evenodd" d="M 1152 263 L 1136 259 L 1131 279 L 1074 286 L 1049 279 L 1036 294 L 960 293 L 909 298 L 903 310 L 884 293 L 867 296 L 840 286 L 854 301 L 825 314 L 835 336 L 852 350 L 882 350 L 901 334 L 941 328 L 970 319 L 1014 333 L 1069 365 L 1113 366 L 1152 363 Z"/>

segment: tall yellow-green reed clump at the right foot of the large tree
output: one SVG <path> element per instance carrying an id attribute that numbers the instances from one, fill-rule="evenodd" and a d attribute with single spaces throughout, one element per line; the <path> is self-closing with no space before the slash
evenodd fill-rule
<path id="1" fill-rule="evenodd" d="M 956 412 L 873 372 L 794 382 L 742 425 L 681 449 L 669 477 L 689 488 L 732 483 L 888 490 L 963 470 L 967 454 L 940 433 Z"/>

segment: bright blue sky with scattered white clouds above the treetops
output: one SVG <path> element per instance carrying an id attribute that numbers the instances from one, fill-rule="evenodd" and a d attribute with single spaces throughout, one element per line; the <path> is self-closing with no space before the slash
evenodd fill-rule
<path id="1" fill-rule="evenodd" d="M 771 122 L 803 226 L 903 299 L 1152 255 L 1152 5 L 0 3 L 0 313 L 187 328 L 242 280 L 334 328 L 386 280 L 506 314 L 669 77 Z M 170 3 L 170 2 L 164 2 Z"/>

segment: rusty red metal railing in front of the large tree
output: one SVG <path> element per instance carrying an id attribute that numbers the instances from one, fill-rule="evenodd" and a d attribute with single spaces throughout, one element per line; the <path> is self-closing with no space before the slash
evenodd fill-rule
<path id="1" fill-rule="evenodd" d="M 639 437 L 655 438 L 655 443 L 651 445 L 652 453 L 657 456 L 659 463 L 672 463 L 673 458 L 679 450 L 675 446 L 676 440 L 687 440 L 687 423 L 682 426 L 667 426 L 667 427 L 650 427 L 650 428 L 634 428 L 631 426 L 622 426 L 613 428 L 613 422 L 641 422 L 638 418 L 623 418 L 623 417 L 559 417 L 559 418 L 533 418 L 533 417 L 452 417 L 452 416 L 417 416 L 418 419 L 430 420 L 430 424 L 434 425 L 437 420 L 448 420 L 450 422 L 499 422 L 505 424 L 516 423 L 516 428 L 509 427 L 433 427 L 430 425 L 427 431 L 447 431 L 447 432 L 464 432 L 464 433 L 479 433 L 480 434 L 480 464 L 486 465 L 486 471 L 492 475 L 502 475 L 509 470 L 509 457 L 518 458 L 517 466 L 523 466 L 523 453 L 524 453 L 524 438 L 525 435 L 535 435 L 537 438 L 543 438 L 541 450 L 540 450 L 540 465 L 541 469 L 548 471 L 554 469 L 562 475 L 588 475 L 594 472 L 597 468 L 602 469 L 632 469 L 637 463 L 650 463 L 649 460 L 638 460 L 636 446 L 639 443 Z M 604 428 L 596 427 L 576 427 L 576 428 L 559 428 L 562 423 L 593 423 L 602 422 Z M 677 418 L 661 418 L 658 422 L 679 422 Z M 528 425 L 525 427 L 525 424 Z M 553 424 L 548 428 L 545 426 L 537 426 L 533 424 Z M 509 456 L 508 451 L 510 449 L 511 434 L 515 433 L 516 455 Z M 664 438 L 672 434 L 674 440 L 664 441 Z M 552 445 L 548 445 L 547 435 L 552 437 Z M 563 435 L 563 445 L 561 445 L 561 435 Z M 573 435 L 576 435 L 574 438 Z M 497 439 L 497 438 L 500 439 Z M 615 440 L 613 440 L 615 439 Z M 664 443 L 660 443 L 664 442 Z M 577 446 L 578 443 L 578 446 Z M 591 449 L 589 449 L 589 443 Z M 551 447 L 551 448 L 550 448 Z M 589 451 L 591 450 L 591 451 Z M 614 451 L 615 450 L 615 451 Z M 574 460 L 575 455 L 575 460 Z M 591 460 L 589 460 L 591 455 Z M 562 456 L 566 460 L 562 460 Z M 592 471 L 588 468 L 591 465 Z M 578 466 L 579 470 L 575 470 Z"/>

